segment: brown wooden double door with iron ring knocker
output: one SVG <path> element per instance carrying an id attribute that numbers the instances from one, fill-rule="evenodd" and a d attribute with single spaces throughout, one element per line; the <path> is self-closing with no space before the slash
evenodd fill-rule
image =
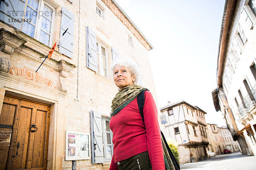
<path id="1" fill-rule="evenodd" d="M 45 170 L 49 105 L 5 96 L 0 115 L 0 170 Z"/>

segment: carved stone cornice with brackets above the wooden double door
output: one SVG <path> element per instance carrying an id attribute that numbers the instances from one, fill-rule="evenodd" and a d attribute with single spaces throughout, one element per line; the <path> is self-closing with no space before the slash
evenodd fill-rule
<path id="1" fill-rule="evenodd" d="M 41 76 L 43 80 L 49 79 L 49 83 L 47 83 L 48 87 L 56 90 L 58 89 L 59 91 L 66 93 L 66 79 L 68 77 L 69 72 L 72 71 L 73 68 L 76 68 L 76 66 L 70 62 L 65 61 L 64 59 L 61 59 L 62 56 L 58 52 L 56 52 L 55 55 L 60 60 L 56 60 L 54 59 L 54 57 L 52 57 L 51 59 L 48 59 L 46 62 L 44 62 L 45 67 L 59 73 L 59 79 L 56 80 L 50 79 L 50 77 L 48 77 L 47 74 L 35 73 L 34 68 L 17 68 L 17 66 L 15 66 L 15 63 L 10 63 L 11 54 L 18 54 L 21 57 L 26 57 L 26 59 L 29 59 L 38 65 L 42 62 L 41 57 L 46 57 L 45 51 L 37 51 L 33 48 L 33 46 L 31 46 L 31 44 L 27 44 L 26 42 L 27 41 L 23 39 L 23 34 L 16 35 L 3 28 L 0 29 L 0 71 L 20 76 L 25 79 L 29 79 L 30 81 L 35 82 L 36 84 L 40 83 L 46 85 L 47 81 L 41 83 L 37 79 L 38 74 Z M 25 73 L 28 73 L 30 77 Z"/>

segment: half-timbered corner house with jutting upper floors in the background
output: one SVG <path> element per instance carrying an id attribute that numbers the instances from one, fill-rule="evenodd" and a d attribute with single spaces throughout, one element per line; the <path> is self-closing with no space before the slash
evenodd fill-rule
<path id="1" fill-rule="evenodd" d="M 180 164 L 207 158 L 209 142 L 204 118 L 207 113 L 185 101 L 166 105 L 160 110 L 166 138 L 178 143 Z"/>

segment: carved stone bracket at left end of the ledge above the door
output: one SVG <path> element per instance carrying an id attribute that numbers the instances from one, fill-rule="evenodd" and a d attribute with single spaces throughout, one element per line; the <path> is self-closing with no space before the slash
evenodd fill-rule
<path id="1" fill-rule="evenodd" d="M 0 29 L 0 71 L 8 73 L 11 67 L 10 58 L 15 48 L 20 47 L 26 40 L 1 28 Z"/>

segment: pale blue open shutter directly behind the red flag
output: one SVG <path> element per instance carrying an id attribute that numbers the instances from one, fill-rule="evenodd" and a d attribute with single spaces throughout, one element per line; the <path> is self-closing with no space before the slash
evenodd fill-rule
<path id="1" fill-rule="evenodd" d="M 73 42 L 74 42 L 74 18 L 75 16 L 68 11 L 66 8 L 62 7 L 61 16 L 61 34 L 68 28 L 66 34 L 64 34 L 60 45 L 59 52 L 65 54 L 67 57 L 73 58 Z"/>

